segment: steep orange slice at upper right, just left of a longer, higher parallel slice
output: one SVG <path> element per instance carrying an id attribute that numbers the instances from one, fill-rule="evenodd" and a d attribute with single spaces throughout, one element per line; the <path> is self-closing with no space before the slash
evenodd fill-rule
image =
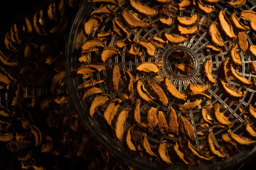
<path id="1" fill-rule="evenodd" d="M 214 45 L 216 45 L 218 47 L 225 47 L 223 38 L 221 37 L 220 32 L 218 30 L 218 23 L 213 22 L 210 24 L 209 34 L 210 34 L 210 38 Z"/>

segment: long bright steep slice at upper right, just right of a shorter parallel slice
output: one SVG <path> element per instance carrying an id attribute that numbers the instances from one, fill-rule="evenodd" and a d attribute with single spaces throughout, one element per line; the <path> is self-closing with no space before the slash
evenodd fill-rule
<path id="1" fill-rule="evenodd" d="M 233 31 L 233 26 L 225 15 L 225 11 L 223 9 L 220 10 L 218 15 L 218 20 L 220 22 L 220 28 L 223 30 L 223 33 L 228 36 L 228 38 L 236 38 L 236 35 Z"/>

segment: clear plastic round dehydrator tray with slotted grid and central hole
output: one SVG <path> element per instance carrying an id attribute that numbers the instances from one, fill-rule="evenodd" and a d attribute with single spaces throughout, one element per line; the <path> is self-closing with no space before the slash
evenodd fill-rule
<path id="1" fill-rule="evenodd" d="M 161 4 L 156 4 L 154 1 L 141 1 L 142 3 L 151 6 L 159 11 L 161 8 Z M 178 3 L 169 4 L 172 6 L 177 7 Z M 78 15 L 73 22 L 73 26 L 70 30 L 70 37 L 66 46 L 66 62 L 65 62 L 65 69 L 66 69 L 66 76 L 68 81 L 68 88 L 69 93 L 72 98 L 73 105 L 75 106 L 74 111 L 78 112 L 79 119 L 81 122 L 81 129 L 89 130 L 92 135 L 98 140 L 106 149 L 112 152 L 117 158 L 124 159 L 125 162 L 130 164 L 131 166 L 137 167 L 138 169 L 170 169 L 170 166 L 167 166 L 159 159 L 149 159 L 144 152 L 132 152 L 130 151 L 125 142 L 119 142 L 114 135 L 114 128 L 111 128 L 110 125 L 107 124 L 105 119 L 103 118 L 103 114 L 105 111 L 106 106 L 100 106 L 96 113 L 91 118 L 89 115 L 90 110 L 90 103 L 95 98 L 96 95 L 92 95 L 85 100 L 82 100 L 82 96 L 85 92 L 85 89 L 77 90 L 77 87 L 82 84 L 83 82 L 89 79 L 97 79 L 97 80 L 104 80 L 104 83 L 97 84 L 96 86 L 102 90 L 103 94 L 109 94 L 112 99 L 113 98 L 120 98 L 122 103 L 118 108 L 117 114 L 122 111 L 123 108 L 129 108 L 130 112 L 125 123 L 125 130 L 129 128 L 131 125 L 134 124 L 134 118 L 132 115 L 133 108 L 137 101 L 137 98 L 140 98 L 138 94 L 134 95 L 134 100 L 127 100 L 124 97 L 124 94 L 127 93 L 127 81 L 128 78 L 125 76 L 125 71 L 129 70 L 134 78 L 134 90 L 136 89 L 136 80 L 142 80 L 143 84 L 146 86 L 147 90 L 154 96 L 154 101 L 146 102 L 141 99 L 141 118 L 142 122 L 146 122 L 147 111 L 151 107 L 157 109 L 157 111 L 163 111 L 164 115 L 168 116 L 171 107 L 173 107 L 176 111 L 176 115 L 183 116 L 186 118 L 191 125 L 193 126 L 195 140 L 193 140 L 192 144 L 194 147 L 199 149 L 201 152 L 205 153 L 208 152 L 208 143 L 206 140 L 208 132 L 211 132 L 215 142 L 217 143 L 218 147 L 223 148 L 225 144 L 221 140 L 221 135 L 227 132 L 234 132 L 241 136 L 246 136 L 247 133 L 244 130 L 244 125 L 248 121 L 252 125 L 255 125 L 255 120 L 248 116 L 247 114 L 247 107 L 249 104 L 255 106 L 255 89 L 252 86 L 242 86 L 237 81 L 233 79 L 230 75 L 228 75 L 228 84 L 231 86 L 235 86 L 239 91 L 245 91 L 246 95 L 242 96 L 241 98 L 232 98 L 228 96 L 225 91 L 223 90 L 222 86 L 220 85 L 220 77 L 219 77 L 219 70 L 220 64 L 225 60 L 225 58 L 230 56 L 230 47 L 233 47 L 234 41 L 228 38 L 224 38 L 223 33 L 223 42 L 225 47 L 222 48 L 222 51 L 218 55 L 213 55 L 206 52 L 206 45 L 211 44 L 210 35 L 208 33 L 208 27 L 210 23 L 215 21 L 218 22 L 218 13 L 221 9 L 225 11 L 225 14 L 230 17 L 231 13 L 238 14 L 244 10 L 252 10 L 255 11 L 255 2 L 254 1 L 247 1 L 247 3 L 240 7 L 240 8 L 228 8 L 225 6 L 225 1 L 219 1 L 218 4 L 215 4 L 215 11 L 210 14 L 203 13 L 197 6 L 190 6 L 182 11 L 178 11 L 174 14 L 175 22 L 171 26 L 165 26 L 164 24 L 160 24 L 159 18 L 166 18 L 164 13 L 158 13 L 156 16 L 151 18 L 140 16 L 137 14 L 138 18 L 142 21 L 149 23 L 149 26 L 146 28 L 137 28 L 131 29 L 129 28 L 126 23 L 122 20 L 122 11 L 129 11 L 132 7 L 129 5 L 129 1 L 122 1 L 119 6 L 110 5 L 111 8 L 115 13 L 114 15 L 99 15 L 95 14 L 95 16 L 100 16 L 103 18 L 102 23 L 100 24 L 99 28 L 95 29 L 93 33 L 90 35 L 85 35 L 83 32 L 83 25 L 84 23 L 90 18 L 90 13 L 95 8 L 100 8 L 105 4 L 92 4 L 90 2 L 85 2 L 80 8 Z M 160 38 L 164 38 L 164 33 L 174 34 L 178 33 L 178 23 L 176 21 L 177 16 L 192 16 L 193 14 L 198 13 L 198 27 L 200 30 L 198 33 L 194 35 L 188 35 L 188 40 L 179 44 L 171 44 L 168 43 L 164 47 L 156 47 L 156 54 L 154 56 L 149 56 L 146 50 L 138 45 L 139 40 L 150 40 L 153 36 L 159 36 Z M 95 40 L 97 38 L 97 33 L 105 33 L 108 31 L 113 31 L 112 29 L 112 21 L 116 18 L 124 28 L 128 30 L 128 34 L 126 37 L 119 37 L 116 33 L 112 35 L 108 40 L 104 40 L 103 42 L 107 47 L 116 47 L 121 55 L 114 56 L 107 60 L 106 62 L 102 62 L 100 58 L 100 54 L 102 49 L 89 52 L 87 55 L 89 56 L 90 62 L 89 63 L 81 63 L 79 62 L 78 58 L 81 57 L 82 53 L 80 50 L 80 46 L 87 42 L 87 40 Z M 242 18 L 240 21 L 245 25 L 249 23 Z M 238 33 L 238 30 L 235 30 L 235 34 Z M 253 31 L 245 31 L 247 36 L 247 40 L 249 45 L 253 44 L 252 36 L 255 35 Z M 128 55 L 129 45 L 125 47 L 117 47 L 116 43 L 121 42 L 125 38 L 129 38 L 132 40 L 131 43 L 137 45 L 137 52 L 139 55 L 131 56 Z M 182 59 L 174 60 L 170 56 L 172 52 L 176 52 L 177 50 L 183 51 L 186 57 Z M 250 73 L 250 62 L 255 62 L 255 57 L 250 55 L 249 52 L 242 52 L 238 49 L 238 54 L 241 57 L 242 65 L 240 67 L 235 67 L 237 72 L 241 74 L 246 79 L 252 81 L 254 74 Z M 211 58 L 211 72 L 213 78 L 217 80 L 216 83 L 210 84 L 210 89 L 205 91 L 204 93 L 210 96 L 211 99 L 207 97 L 198 97 L 198 98 L 188 98 L 186 101 L 177 101 L 176 99 L 172 98 L 171 95 L 166 91 L 164 86 L 162 86 L 162 80 L 165 77 L 169 77 L 170 81 L 178 91 L 181 93 L 186 93 L 188 91 L 188 86 L 190 84 L 206 84 L 206 77 L 203 74 L 203 64 Z M 137 67 L 139 64 L 143 62 L 154 62 L 159 65 L 159 74 L 152 74 L 152 73 L 141 73 L 137 72 Z M 101 72 L 97 72 L 92 74 L 92 76 L 82 79 L 77 74 L 75 74 L 75 69 L 82 65 L 87 64 L 100 64 L 105 67 Z M 191 72 L 181 72 L 175 69 L 176 64 L 191 64 L 193 65 L 193 69 Z M 118 65 L 121 73 L 121 79 L 119 81 L 119 88 L 117 91 L 113 91 L 113 83 L 112 83 L 112 69 L 114 65 Z M 163 106 L 161 102 L 158 100 L 158 96 L 152 93 L 148 88 L 148 83 L 154 81 L 156 84 L 164 89 L 165 94 L 169 98 L 169 102 L 167 106 Z M 187 102 L 193 102 L 198 99 L 201 99 L 201 103 L 196 107 L 188 111 L 181 111 L 179 107 Z M 108 101 L 110 102 L 110 101 Z M 221 112 L 225 114 L 225 116 L 233 123 L 231 128 L 227 127 L 220 127 L 218 123 L 214 122 L 212 125 L 208 125 L 208 128 L 202 128 L 204 124 L 202 122 L 201 116 L 201 108 L 203 106 L 213 107 L 215 103 L 220 104 Z M 242 109 L 241 109 L 242 108 Z M 245 109 L 244 109 L 245 108 Z M 112 123 L 114 125 L 114 123 Z M 159 128 L 154 128 L 153 132 L 149 132 L 147 128 L 143 126 L 136 125 L 134 128 L 134 140 L 139 143 L 140 137 L 143 132 L 146 132 L 147 140 L 149 141 L 150 147 L 153 151 L 156 151 L 159 143 L 163 140 L 166 140 L 166 144 L 169 148 L 169 157 L 171 161 L 174 163 L 172 168 L 174 169 L 182 169 L 185 164 L 183 164 L 174 154 L 174 150 L 172 147 L 174 146 L 174 141 L 180 141 L 181 145 L 186 148 L 186 140 L 183 140 L 180 136 L 175 135 L 162 135 L 159 131 Z M 205 135 L 200 135 L 201 133 Z M 124 137 L 123 137 L 124 141 Z M 186 148 L 187 149 L 187 148 Z M 234 168 L 235 165 L 238 165 L 242 162 L 245 162 L 245 159 L 252 156 L 255 153 L 256 147 L 239 147 L 240 152 L 236 152 L 230 154 L 230 157 L 225 159 L 215 158 L 212 162 L 201 162 L 200 164 L 196 164 L 191 166 L 191 169 L 228 169 Z M 225 149 L 225 153 L 228 153 L 228 149 Z M 193 156 L 190 152 L 188 152 L 188 157 L 190 157 L 194 162 L 197 161 L 196 157 Z"/>

